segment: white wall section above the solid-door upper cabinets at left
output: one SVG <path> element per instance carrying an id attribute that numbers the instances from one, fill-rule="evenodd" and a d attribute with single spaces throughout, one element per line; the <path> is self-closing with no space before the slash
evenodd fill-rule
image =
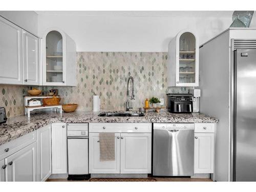
<path id="1" fill-rule="evenodd" d="M 0 11 L 0 15 L 28 32 L 37 35 L 37 14 L 34 11 Z"/>

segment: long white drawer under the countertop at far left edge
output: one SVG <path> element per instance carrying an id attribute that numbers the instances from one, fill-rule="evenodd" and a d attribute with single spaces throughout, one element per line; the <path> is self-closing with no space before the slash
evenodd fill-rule
<path id="1" fill-rule="evenodd" d="M 36 141 L 36 131 L 33 131 L 13 141 L 0 145 L 0 159 L 8 157 L 9 155 L 17 152 L 25 146 L 33 143 L 34 141 Z"/>

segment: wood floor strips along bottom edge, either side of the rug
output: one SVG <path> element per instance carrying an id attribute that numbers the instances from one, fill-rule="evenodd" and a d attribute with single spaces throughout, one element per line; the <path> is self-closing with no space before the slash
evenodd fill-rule
<path id="1" fill-rule="evenodd" d="M 204 181 L 208 181 L 208 182 L 212 182 L 211 179 L 196 179 L 196 178 L 181 178 L 181 177 L 152 177 L 155 178 L 157 181 L 198 181 L 198 182 L 204 182 Z M 48 179 L 48 182 L 66 182 L 68 181 L 67 179 Z M 88 180 L 77 180 L 78 182 L 87 182 Z M 70 181 L 69 181 L 70 182 Z M 71 182 L 74 182 L 74 180 L 72 180 Z"/>

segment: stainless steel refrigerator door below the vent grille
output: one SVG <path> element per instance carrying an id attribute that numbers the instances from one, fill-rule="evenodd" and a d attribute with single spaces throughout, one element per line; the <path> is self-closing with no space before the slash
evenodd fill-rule
<path id="1" fill-rule="evenodd" d="M 256 50 L 234 61 L 234 180 L 256 181 Z"/>

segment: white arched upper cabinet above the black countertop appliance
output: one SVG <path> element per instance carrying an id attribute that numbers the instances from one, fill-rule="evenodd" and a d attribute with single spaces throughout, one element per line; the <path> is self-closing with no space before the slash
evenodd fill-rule
<path id="1" fill-rule="evenodd" d="M 185 30 L 168 46 L 168 87 L 199 86 L 199 41 L 196 34 Z"/>

